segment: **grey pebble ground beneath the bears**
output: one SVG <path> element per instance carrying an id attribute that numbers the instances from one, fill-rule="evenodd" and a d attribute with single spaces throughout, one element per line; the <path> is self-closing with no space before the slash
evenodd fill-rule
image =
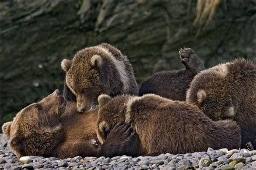
<path id="1" fill-rule="evenodd" d="M 123 155 L 113 158 L 75 157 L 68 159 L 22 157 L 18 159 L 0 134 L 0 169 L 256 169 L 256 150 L 231 150 L 226 148 L 207 152 L 158 157 L 131 158 Z"/>

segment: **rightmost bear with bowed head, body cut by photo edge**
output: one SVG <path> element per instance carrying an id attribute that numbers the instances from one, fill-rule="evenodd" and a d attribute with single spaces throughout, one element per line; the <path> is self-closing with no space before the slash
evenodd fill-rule
<path id="1" fill-rule="evenodd" d="M 242 147 L 256 146 L 256 66 L 236 59 L 194 77 L 186 101 L 213 121 L 232 119 L 241 126 Z"/>

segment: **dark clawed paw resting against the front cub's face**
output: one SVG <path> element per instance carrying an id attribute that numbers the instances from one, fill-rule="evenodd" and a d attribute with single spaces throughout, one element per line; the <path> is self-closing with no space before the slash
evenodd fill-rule
<path id="1" fill-rule="evenodd" d="M 118 123 L 110 131 L 100 149 L 99 156 L 115 157 L 118 155 L 137 156 L 140 146 L 138 134 L 131 125 Z"/>

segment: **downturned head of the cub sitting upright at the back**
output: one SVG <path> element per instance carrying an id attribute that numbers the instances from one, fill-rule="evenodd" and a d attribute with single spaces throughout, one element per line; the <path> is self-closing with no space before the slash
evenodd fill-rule
<path id="1" fill-rule="evenodd" d="M 97 105 L 100 94 L 110 95 L 107 74 L 114 67 L 112 54 L 104 48 L 89 47 L 77 52 L 72 60 L 61 63 L 66 72 L 66 84 L 77 97 L 77 111 L 84 112 Z"/>

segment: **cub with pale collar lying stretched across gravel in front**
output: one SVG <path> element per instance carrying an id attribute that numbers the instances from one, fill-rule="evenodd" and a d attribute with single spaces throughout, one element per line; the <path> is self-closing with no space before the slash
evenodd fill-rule
<path id="1" fill-rule="evenodd" d="M 241 131 L 234 121 L 213 122 L 197 107 L 154 94 L 142 97 L 98 97 L 97 136 L 103 143 L 118 122 L 131 124 L 140 141 L 140 155 L 239 148 Z M 135 153 L 133 153 L 135 154 Z"/>

